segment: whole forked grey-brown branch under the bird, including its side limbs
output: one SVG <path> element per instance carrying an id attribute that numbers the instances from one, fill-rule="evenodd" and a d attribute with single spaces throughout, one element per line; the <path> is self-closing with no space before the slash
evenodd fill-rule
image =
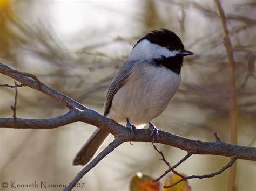
<path id="1" fill-rule="evenodd" d="M 75 179 L 73 179 L 73 181 L 70 183 L 70 186 L 65 188 L 65 190 L 71 190 L 74 183 L 77 183 L 84 174 L 89 172 L 90 169 L 97 165 L 100 160 L 102 160 L 107 154 L 109 154 L 114 150 L 114 148 L 123 142 L 152 142 L 152 137 L 149 136 L 147 130 L 137 129 L 137 131 L 134 133 L 134 136 L 132 136 L 132 133 L 128 128 L 124 128 L 124 126 L 98 114 L 98 112 L 94 110 L 86 108 L 84 105 L 78 103 L 72 98 L 46 86 L 37 78 L 33 77 L 32 74 L 29 75 L 28 73 L 18 72 L 6 65 L 3 65 L 2 63 L 0 63 L 0 73 L 12 77 L 24 86 L 28 86 L 32 89 L 41 91 L 54 100 L 60 103 L 64 103 L 69 107 L 69 111 L 66 112 L 66 114 L 49 119 L 23 119 L 16 117 L 16 121 L 14 122 L 14 118 L 0 118 L 0 128 L 53 129 L 80 121 L 97 126 L 98 128 L 114 135 L 115 140 L 109 146 L 107 146 L 103 152 L 97 155 L 97 157 L 93 159 L 87 166 L 85 166 L 84 169 L 78 173 Z M 217 134 L 214 136 L 216 139 L 215 142 L 203 142 L 200 140 L 187 139 L 181 136 L 173 135 L 172 133 L 163 130 L 159 130 L 159 135 L 155 142 L 174 146 L 180 148 L 181 150 L 187 151 L 188 154 L 176 165 L 174 165 L 172 170 L 184 162 L 192 154 L 212 154 L 231 157 L 232 160 L 224 167 L 225 169 L 230 167 L 236 159 L 256 160 L 256 148 L 224 143 L 219 139 Z M 216 173 L 221 173 L 224 171 L 221 170 Z M 212 174 L 207 176 L 211 177 Z M 201 176 L 188 177 L 201 178 Z"/>

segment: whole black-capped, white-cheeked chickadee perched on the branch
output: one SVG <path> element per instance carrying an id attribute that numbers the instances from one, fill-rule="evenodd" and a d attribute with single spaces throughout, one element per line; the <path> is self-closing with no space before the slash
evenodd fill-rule
<path id="1" fill-rule="evenodd" d="M 107 91 L 104 116 L 135 131 L 149 124 L 151 136 L 157 128 L 151 123 L 167 107 L 180 84 L 184 49 L 172 31 L 152 31 L 133 47 L 131 54 L 113 79 Z M 108 132 L 97 129 L 73 159 L 73 165 L 85 165 L 104 142 Z"/>

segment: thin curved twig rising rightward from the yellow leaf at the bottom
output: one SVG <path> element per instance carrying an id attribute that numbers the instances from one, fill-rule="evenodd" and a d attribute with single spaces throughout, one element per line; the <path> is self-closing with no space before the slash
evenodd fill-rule
<path id="1" fill-rule="evenodd" d="M 188 180 L 188 179 L 204 179 L 204 178 L 211 178 L 213 176 L 216 176 L 218 174 L 221 174 L 223 171 L 225 171 L 227 168 L 230 168 L 234 162 L 237 160 L 236 157 L 232 157 L 230 162 L 228 162 L 228 164 L 226 164 L 224 167 L 222 167 L 219 171 L 217 172 L 214 172 L 214 173 L 211 173 L 211 174 L 205 174 L 205 175 L 192 175 L 192 176 L 187 176 L 187 177 L 183 177 L 181 178 L 180 180 L 178 180 L 177 182 L 173 183 L 172 185 L 170 186 L 164 186 L 164 188 L 171 188 L 175 185 L 177 185 L 178 183 L 182 182 L 182 181 L 185 181 L 185 180 Z"/>

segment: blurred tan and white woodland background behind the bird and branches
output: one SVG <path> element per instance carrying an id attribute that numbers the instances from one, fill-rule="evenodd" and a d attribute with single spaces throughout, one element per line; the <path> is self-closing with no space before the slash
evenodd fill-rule
<path id="1" fill-rule="evenodd" d="M 256 3 L 225 0 L 222 6 L 234 47 L 238 144 L 255 147 Z M 230 73 L 214 1 L 0 0 L 0 62 L 35 74 L 46 85 L 102 114 L 107 88 L 133 45 L 160 27 L 176 32 L 194 55 L 185 58 L 181 86 L 154 124 L 204 141 L 215 141 L 213 133 L 217 132 L 230 143 Z M 0 74 L 0 84 L 5 83 L 14 84 L 14 80 Z M 12 116 L 14 94 L 15 89 L 0 87 L 0 117 Z M 36 90 L 18 88 L 18 117 L 50 118 L 66 111 L 65 105 Z M 82 169 L 72 166 L 72 158 L 94 130 L 94 126 L 80 122 L 53 130 L 1 128 L 0 182 L 68 184 Z M 104 145 L 111 140 L 113 136 Z M 186 154 L 170 146 L 158 144 L 158 148 L 171 165 Z M 128 190 L 130 178 L 138 171 L 160 176 L 167 166 L 159 159 L 151 143 L 124 143 L 80 180 L 85 183 L 83 189 L 75 190 Z M 193 155 L 177 171 L 187 175 L 212 173 L 228 160 Z M 255 162 L 239 160 L 237 190 L 255 190 L 255 178 Z M 228 171 L 188 182 L 192 190 L 227 190 Z"/>

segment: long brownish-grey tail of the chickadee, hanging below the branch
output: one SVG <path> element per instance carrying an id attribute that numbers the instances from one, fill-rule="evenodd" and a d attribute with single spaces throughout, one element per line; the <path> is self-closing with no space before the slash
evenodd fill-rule
<path id="1" fill-rule="evenodd" d="M 108 135 L 109 133 L 105 130 L 95 130 L 95 132 L 93 132 L 91 137 L 75 155 L 73 165 L 85 165 L 87 162 L 89 162 Z"/>

